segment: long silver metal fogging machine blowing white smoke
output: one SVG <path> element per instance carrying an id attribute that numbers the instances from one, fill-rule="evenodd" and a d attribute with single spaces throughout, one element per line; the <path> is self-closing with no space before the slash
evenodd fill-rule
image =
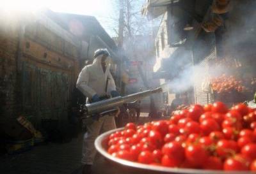
<path id="1" fill-rule="evenodd" d="M 97 117 L 113 115 L 117 112 L 118 106 L 122 106 L 124 103 L 137 101 L 138 99 L 142 99 L 150 96 L 151 94 L 159 92 L 163 92 L 161 87 L 158 87 L 157 89 L 137 92 L 123 97 L 118 96 L 115 98 L 104 99 L 95 103 L 82 105 L 81 113 L 83 114 L 83 117 L 93 117 L 93 115 L 97 115 Z"/>

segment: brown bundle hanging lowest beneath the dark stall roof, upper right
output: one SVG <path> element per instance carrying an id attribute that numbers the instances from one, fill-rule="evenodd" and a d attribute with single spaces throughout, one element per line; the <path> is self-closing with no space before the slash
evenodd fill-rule
<path id="1" fill-rule="evenodd" d="M 223 19 L 220 17 L 220 15 L 214 14 L 212 15 L 210 20 L 207 20 L 202 23 L 202 28 L 205 32 L 214 32 L 220 25 L 223 24 Z"/>

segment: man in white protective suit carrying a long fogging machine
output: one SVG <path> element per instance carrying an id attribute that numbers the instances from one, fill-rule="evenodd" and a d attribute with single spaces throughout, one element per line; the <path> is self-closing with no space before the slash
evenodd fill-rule
<path id="1" fill-rule="evenodd" d="M 86 103 L 94 103 L 102 99 L 119 96 L 115 81 L 109 71 L 110 54 L 106 48 L 96 50 L 93 63 L 84 66 L 78 76 L 76 87 L 87 97 Z M 96 155 L 94 141 L 100 133 L 115 129 L 115 116 L 106 115 L 99 119 L 92 119 L 86 125 L 83 140 L 83 174 L 92 173 L 93 159 Z"/>

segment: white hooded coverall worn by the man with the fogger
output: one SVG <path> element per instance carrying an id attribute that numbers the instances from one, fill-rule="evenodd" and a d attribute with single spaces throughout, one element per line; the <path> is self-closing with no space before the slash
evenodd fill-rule
<path id="1" fill-rule="evenodd" d="M 81 73 L 78 76 L 76 87 L 81 91 L 84 96 L 88 99 L 91 99 L 92 96 L 98 94 L 98 96 L 110 96 L 111 91 L 116 91 L 115 81 L 113 76 L 109 71 L 109 64 L 106 67 L 104 73 L 101 65 L 102 55 L 99 55 L 93 60 L 93 63 L 84 66 Z M 106 62 L 109 61 L 109 57 L 106 59 Z M 108 89 L 106 91 L 106 82 L 108 78 Z M 96 149 L 94 147 L 94 141 L 100 133 L 104 133 L 111 129 L 116 129 L 115 117 L 106 115 L 100 117 L 99 120 L 93 120 L 92 124 L 86 125 L 87 132 L 84 134 L 83 140 L 83 155 L 82 163 L 83 164 L 93 164 L 93 159 L 96 155 Z"/>

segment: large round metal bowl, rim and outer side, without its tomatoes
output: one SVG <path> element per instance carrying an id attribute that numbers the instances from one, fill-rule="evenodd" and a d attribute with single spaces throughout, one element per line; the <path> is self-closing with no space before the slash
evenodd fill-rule
<path id="1" fill-rule="evenodd" d="M 122 131 L 124 128 L 113 129 L 106 133 L 101 134 L 95 140 L 95 148 L 97 151 L 109 161 L 113 162 L 116 171 L 120 173 L 132 173 L 132 174 L 253 174 L 250 171 L 222 171 L 222 170 L 196 170 L 196 169 L 185 169 L 185 168 L 170 168 L 164 166 L 154 166 L 148 164 L 135 163 L 120 159 L 108 153 L 108 140 L 109 136 L 116 131 Z"/>

